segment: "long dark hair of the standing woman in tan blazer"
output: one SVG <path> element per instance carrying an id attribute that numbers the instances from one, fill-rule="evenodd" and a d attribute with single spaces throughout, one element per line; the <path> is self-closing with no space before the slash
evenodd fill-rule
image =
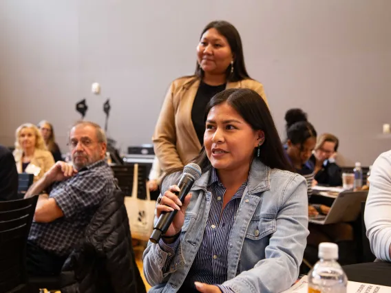
<path id="1" fill-rule="evenodd" d="M 219 34 L 225 37 L 234 56 L 232 74 L 231 66 L 226 69 L 227 81 L 240 81 L 250 78 L 246 70 L 246 65 L 244 65 L 242 39 L 240 39 L 240 34 L 237 32 L 236 28 L 228 21 L 212 21 L 204 28 L 204 30 L 202 30 L 200 39 L 202 38 L 202 35 L 211 28 L 214 28 L 219 32 Z M 202 70 L 198 62 L 195 66 L 195 76 L 198 76 L 198 78 L 201 79 L 204 77 L 204 70 Z"/>

